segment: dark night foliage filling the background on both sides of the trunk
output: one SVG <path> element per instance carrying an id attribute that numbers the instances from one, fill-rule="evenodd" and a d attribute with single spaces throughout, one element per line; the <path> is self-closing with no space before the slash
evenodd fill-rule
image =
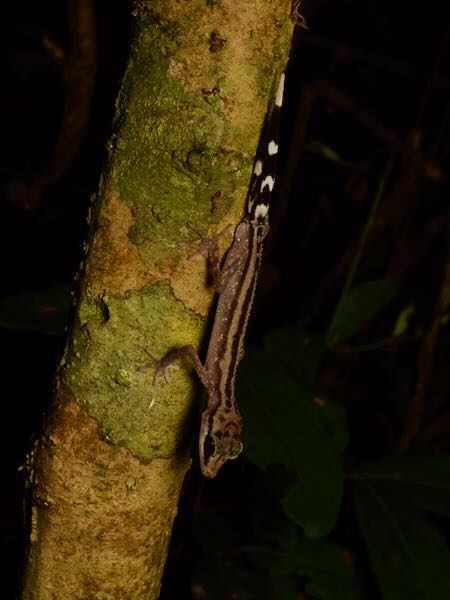
<path id="1" fill-rule="evenodd" d="M 127 54 L 131 7 L 96 8 L 90 125 L 34 211 L 23 198 L 64 106 L 42 39 L 67 45 L 66 15 L 22 2 L 2 21 L 4 598 L 21 561 L 17 469 L 49 398 Z M 163 599 L 450 598 L 445 9 L 303 3 L 239 370 L 245 455 L 212 482 L 190 473 Z"/>

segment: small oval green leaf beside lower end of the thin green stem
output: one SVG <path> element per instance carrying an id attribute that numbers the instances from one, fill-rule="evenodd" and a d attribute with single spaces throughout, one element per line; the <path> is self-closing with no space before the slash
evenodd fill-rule
<path id="1" fill-rule="evenodd" d="M 393 300 L 397 289 L 397 284 L 387 279 L 367 281 L 352 288 L 337 309 L 329 343 L 343 342 L 357 333 Z"/>

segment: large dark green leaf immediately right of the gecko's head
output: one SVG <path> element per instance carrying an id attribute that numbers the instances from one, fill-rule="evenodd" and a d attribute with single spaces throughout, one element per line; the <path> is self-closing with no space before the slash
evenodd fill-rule
<path id="1" fill-rule="evenodd" d="M 283 501 L 306 535 L 326 535 L 342 497 L 342 469 L 313 394 L 263 352 L 249 348 L 239 371 L 237 398 L 246 455 L 261 468 L 285 465 L 298 478 Z"/>

